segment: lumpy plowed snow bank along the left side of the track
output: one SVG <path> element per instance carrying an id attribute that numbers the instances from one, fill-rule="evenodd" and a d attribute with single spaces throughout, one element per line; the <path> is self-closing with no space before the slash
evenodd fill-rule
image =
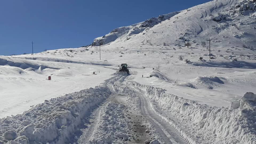
<path id="1" fill-rule="evenodd" d="M 105 84 L 52 98 L 21 115 L 0 119 L 0 143 L 66 143 L 91 107 L 110 95 Z"/>

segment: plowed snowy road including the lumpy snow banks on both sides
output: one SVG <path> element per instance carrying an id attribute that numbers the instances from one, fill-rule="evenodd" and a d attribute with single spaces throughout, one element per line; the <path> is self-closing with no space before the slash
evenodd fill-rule
<path id="1" fill-rule="evenodd" d="M 233 108 L 201 105 L 134 82 L 133 76 L 117 73 L 94 89 L 52 98 L 0 119 L 0 143 L 256 142 L 255 132 L 248 129 L 255 123 L 250 110 L 254 106 L 246 99 Z M 237 105 L 248 110 L 234 108 Z"/>

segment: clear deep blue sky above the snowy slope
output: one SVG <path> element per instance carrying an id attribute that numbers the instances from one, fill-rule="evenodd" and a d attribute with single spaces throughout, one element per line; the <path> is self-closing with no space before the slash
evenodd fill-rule
<path id="1" fill-rule="evenodd" d="M 210 0 L 1 0 L 0 55 L 89 45 L 111 30 Z"/>

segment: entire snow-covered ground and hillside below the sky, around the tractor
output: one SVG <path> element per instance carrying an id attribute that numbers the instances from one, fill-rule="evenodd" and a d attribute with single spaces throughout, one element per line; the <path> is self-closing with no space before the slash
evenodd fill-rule
<path id="1" fill-rule="evenodd" d="M 256 2 L 215 0 L 0 56 L 0 144 L 256 144 L 255 45 Z"/>

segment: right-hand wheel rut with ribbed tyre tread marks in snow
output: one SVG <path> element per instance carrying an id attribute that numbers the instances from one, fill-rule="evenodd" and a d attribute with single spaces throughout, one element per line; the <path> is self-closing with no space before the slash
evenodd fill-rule
<path id="1" fill-rule="evenodd" d="M 144 96 L 139 97 L 139 100 L 142 113 L 148 117 L 148 121 L 153 125 L 161 140 L 165 143 L 173 144 L 189 143 L 174 126 L 170 125 L 165 119 L 161 118 L 152 110 Z"/>

